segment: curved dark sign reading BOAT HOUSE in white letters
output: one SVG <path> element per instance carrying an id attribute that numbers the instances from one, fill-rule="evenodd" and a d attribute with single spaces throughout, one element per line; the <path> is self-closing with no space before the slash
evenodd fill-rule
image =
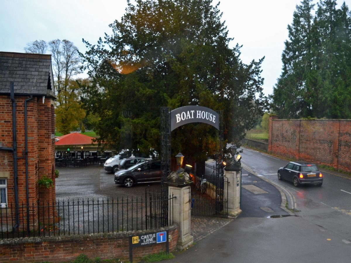
<path id="1" fill-rule="evenodd" d="M 203 122 L 219 130 L 219 115 L 201 106 L 184 106 L 171 111 L 171 131 L 187 123 Z"/>

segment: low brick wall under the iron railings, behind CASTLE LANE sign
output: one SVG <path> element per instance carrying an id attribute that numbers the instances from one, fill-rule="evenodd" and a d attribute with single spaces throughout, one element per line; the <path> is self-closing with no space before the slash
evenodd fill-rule
<path id="1" fill-rule="evenodd" d="M 80 254 L 89 258 L 129 260 L 129 236 L 168 230 L 169 251 L 177 246 L 178 225 L 150 231 L 114 232 L 105 234 L 56 237 L 26 237 L 0 240 L 0 262 L 62 262 L 72 261 Z M 133 248 L 133 259 L 166 251 L 166 243 Z"/>

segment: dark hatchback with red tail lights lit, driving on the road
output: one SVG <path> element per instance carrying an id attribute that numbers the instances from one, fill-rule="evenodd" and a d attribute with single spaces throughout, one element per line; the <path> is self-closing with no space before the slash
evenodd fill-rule
<path id="1" fill-rule="evenodd" d="M 301 184 L 317 184 L 322 186 L 323 175 L 318 170 L 316 164 L 307 162 L 289 162 L 285 167 L 278 170 L 278 179 L 285 179 L 293 182 L 294 186 L 299 187 Z"/>

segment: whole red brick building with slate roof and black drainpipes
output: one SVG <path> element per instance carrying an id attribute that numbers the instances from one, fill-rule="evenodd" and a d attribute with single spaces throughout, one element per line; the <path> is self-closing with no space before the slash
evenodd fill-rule
<path id="1" fill-rule="evenodd" d="M 54 100 L 51 55 L 0 52 L 1 217 L 12 216 L 19 228 L 38 211 L 16 207 L 55 200 Z M 53 187 L 39 188 L 43 175 Z"/>

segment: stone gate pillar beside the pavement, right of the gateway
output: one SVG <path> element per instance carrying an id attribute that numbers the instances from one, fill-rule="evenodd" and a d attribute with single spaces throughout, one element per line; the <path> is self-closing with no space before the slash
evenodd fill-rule
<path id="1" fill-rule="evenodd" d="M 238 216 L 241 213 L 241 169 L 231 165 L 224 168 L 224 176 L 228 178 L 228 183 L 224 184 L 224 200 L 228 202 L 229 216 Z"/>

